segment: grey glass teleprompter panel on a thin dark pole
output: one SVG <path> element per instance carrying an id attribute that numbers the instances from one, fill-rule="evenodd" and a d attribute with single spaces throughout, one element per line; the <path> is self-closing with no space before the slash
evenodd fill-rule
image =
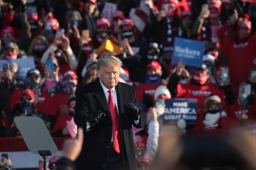
<path id="1" fill-rule="evenodd" d="M 43 120 L 37 116 L 16 116 L 14 118 L 28 150 L 43 157 L 43 170 L 47 169 L 47 156 L 58 151 Z"/>

